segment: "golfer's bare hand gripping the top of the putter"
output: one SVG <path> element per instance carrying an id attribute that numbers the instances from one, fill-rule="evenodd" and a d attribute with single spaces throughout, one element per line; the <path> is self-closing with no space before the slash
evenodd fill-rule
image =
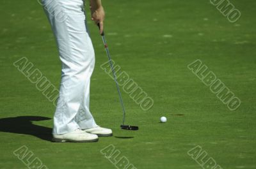
<path id="1" fill-rule="evenodd" d="M 105 11 L 103 7 L 97 6 L 95 4 L 90 5 L 91 13 L 92 13 L 92 20 L 95 22 L 95 24 L 100 25 L 100 34 L 103 32 L 103 21 L 105 18 Z"/>

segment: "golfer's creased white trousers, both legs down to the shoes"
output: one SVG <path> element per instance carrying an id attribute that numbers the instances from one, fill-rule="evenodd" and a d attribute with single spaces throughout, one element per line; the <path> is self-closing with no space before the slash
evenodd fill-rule
<path id="1" fill-rule="evenodd" d="M 86 29 L 83 0 L 42 0 L 56 38 L 61 68 L 60 98 L 54 114 L 54 135 L 97 126 L 89 109 L 90 77 L 95 64 Z"/>

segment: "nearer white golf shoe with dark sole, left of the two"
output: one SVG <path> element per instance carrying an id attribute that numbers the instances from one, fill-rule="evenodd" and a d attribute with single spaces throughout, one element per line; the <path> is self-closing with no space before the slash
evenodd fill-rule
<path id="1" fill-rule="evenodd" d="M 70 133 L 64 135 L 52 135 L 53 142 L 97 142 L 99 140 L 97 135 L 86 133 L 81 129 L 76 129 Z"/>

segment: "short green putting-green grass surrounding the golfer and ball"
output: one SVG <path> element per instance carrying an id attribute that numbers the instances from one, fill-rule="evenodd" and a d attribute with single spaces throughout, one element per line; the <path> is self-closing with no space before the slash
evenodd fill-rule
<path id="1" fill-rule="evenodd" d="M 140 126 L 140 130 L 118 128 L 122 110 L 115 84 L 100 69 L 107 57 L 97 27 L 89 22 L 96 54 L 90 108 L 97 123 L 112 128 L 116 137 L 100 138 L 97 143 L 52 143 L 38 138 L 40 130 L 21 121 L 3 123 L 8 117 L 52 118 L 54 113 L 52 103 L 13 62 L 27 57 L 56 86 L 61 65 L 42 7 L 36 1 L 2 0 L 0 168 L 27 168 L 13 155 L 22 145 L 49 169 L 115 168 L 100 154 L 109 144 L 138 169 L 200 168 L 187 154 L 196 145 L 223 169 L 256 168 L 256 1 L 230 2 L 241 11 L 234 24 L 209 1 L 103 1 L 113 60 L 154 99 L 154 107 L 145 112 L 123 92 L 127 123 Z M 172 37 L 164 37 L 166 34 Z M 196 59 L 241 99 L 241 107 L 228 110 L 188 70 L 187 65 Z M 167 117 L 166 124 L 159 123 L 161 116 Z M 33 124 L 49 130 L 52 119 Z M 27 128 L 34 134 L 26 134 Z"/>

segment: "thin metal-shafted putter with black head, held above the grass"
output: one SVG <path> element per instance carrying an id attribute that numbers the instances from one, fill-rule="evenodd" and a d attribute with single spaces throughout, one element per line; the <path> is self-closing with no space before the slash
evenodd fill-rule
<path id="1" fill-rule="evenodd" d="M 97 24 L 97 25 L 100 29 L 100 24 Z M 121 92 L 120 92 L 120 89 L 119 89 L 119 85 L 118 85 L 118 82 L 116 81 L 116 73 L 115 73 L 115 70 L 113 68 L 113 63 L 112 63 L 112 60 L 111 60 L 111 57 L 110 57 L 110 54 L 109 54 L 108 45 L 107 45 L 107 42 L 106 42 L 106 39 L 105 39 L 104 32 L 102 31 L 102 34 L 100 34 L 100 35 L 102 37 L 102 41 L 104 43 L 104 47 L 105 47 L 106 53 L 108 55 L 109 64 L 110 64 L 110 67 L 111 67 L 111 71 L 113 73 L 113 77 L 114 77 L 114 80 L 115 80 L 115 83 L 116 83 L 116 88 L 117 88 L 117 91 L 118 91 L 120 104 L 121 104 L 121 107 L 122 107 L 122 110 L 123 110 L 123 123 L 121 124 L 120 128 L 121 129 L 128 129 L 128 130 L 138 130 L 139 129 L 138 126 L 130 126 L 130 125 L 125 125 L 124 124 L 124 122 L 125 122 L 125 108 L 124 108 L 124 103 L 123 103 L 123 99 L 122 99 L 122 96 L 121 96 Z"/>

